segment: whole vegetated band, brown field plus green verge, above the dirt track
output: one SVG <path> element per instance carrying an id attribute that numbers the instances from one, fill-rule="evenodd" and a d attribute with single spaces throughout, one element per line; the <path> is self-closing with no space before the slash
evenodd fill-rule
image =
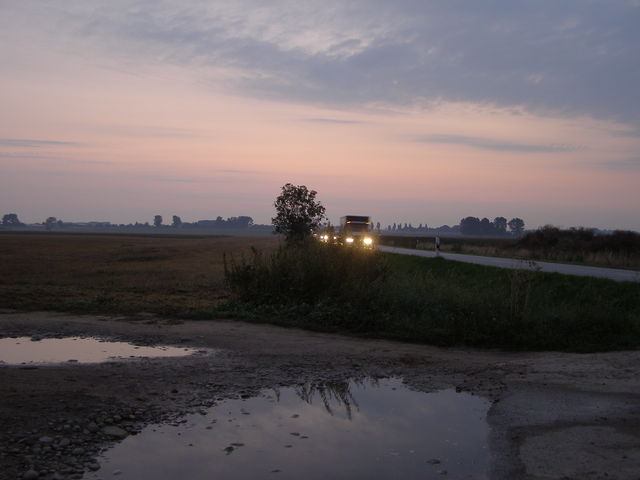
<path id="1" fill-rule="evenodd" d="M 436 345 L 640 345 L 637 283 L 278 246 L 273 235 L 0 234 L 0 308 L 236 317 Z"/>

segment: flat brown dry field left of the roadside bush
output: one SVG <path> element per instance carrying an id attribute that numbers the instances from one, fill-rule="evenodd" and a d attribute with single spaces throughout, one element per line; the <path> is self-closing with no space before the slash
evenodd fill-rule
<path id="1" fill-rule="evenodd" d="M 188 314 L 228 292 L 223 255 L 272 249 L 270 236 L 0 234 L 0 307 Z"/>

